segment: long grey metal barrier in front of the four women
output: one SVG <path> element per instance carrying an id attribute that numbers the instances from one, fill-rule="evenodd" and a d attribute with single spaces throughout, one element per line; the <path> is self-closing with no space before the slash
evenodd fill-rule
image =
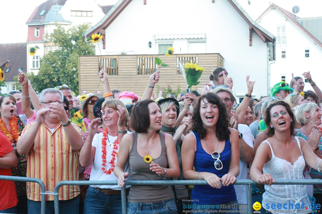
<path id="1" fill-rule="evenodd" d="M 117 181 L 61 181 L 54 189 L 55 214 L 59 214 L 58 190 L 63 185 L 117 185 Z M 246 185 L 247 213 L 252 214 L 251 185 L 256 184 L 252 180 L 237 180 L 233 185 Z M 276 180 L 277 184 L 322 184 L 322 180 Z M 204 180 L 184 180 L 184 181 L 125 181 L 125 185 L 208 185 Z M 122 213 L 127 213 L 125 186 L 121 189 Z"/>

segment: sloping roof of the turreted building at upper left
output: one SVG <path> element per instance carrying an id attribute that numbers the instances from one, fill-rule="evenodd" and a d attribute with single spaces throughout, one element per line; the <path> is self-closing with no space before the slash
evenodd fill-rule
<path id="1" fill-rule="evenodd" d="M 48 13 L 48 11 L 50 10 L 50 8 L 52 7 L 52 5 L 58 4 L 58 5 L 65 5 L 67 0 L 47 0 L 45 1 L 43 4 L 37 6 L 33 13 L 31 14 L 31 16 L 29 17 L 29 19 L 27 20 L 26 24 L 32 24 L 32 23 L 39 23 L 41 21 L 43 21 Z M 46 12 L 40 16 L 39 14 L 43 11 L 46 10 Z"/>

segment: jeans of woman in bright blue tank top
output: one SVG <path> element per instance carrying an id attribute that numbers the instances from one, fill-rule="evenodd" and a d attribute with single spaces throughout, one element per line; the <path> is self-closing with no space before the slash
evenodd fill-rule
<path id="1" fill-rule="evenodd" d="M 191 203 L 193 213 L 239 213 L 237 201 L 223 204 L 196 204 Z"/>

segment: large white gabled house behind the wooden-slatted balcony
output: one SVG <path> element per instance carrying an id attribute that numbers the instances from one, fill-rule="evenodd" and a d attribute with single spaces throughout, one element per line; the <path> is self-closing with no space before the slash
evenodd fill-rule
<path id="1" fill-rule="evenodd" d="M 255 97 L 268 94 L 268 46 L 274 36 L 236 0 L 119 0 L 84 35 L 99 32 L 102 55 L 165 54 L 170 46 L 175 54 L 220 53 L 237 97 L 244 97 L 247 74 L 256 80 Z"/>

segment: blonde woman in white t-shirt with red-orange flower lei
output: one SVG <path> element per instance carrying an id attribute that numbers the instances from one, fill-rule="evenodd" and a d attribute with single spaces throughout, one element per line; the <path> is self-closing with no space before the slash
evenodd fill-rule
<path id="1" fill-rule="evenodd" d="M 96 133 L 100 118 L 89 124 L 88 137 L 80 152 L 80 164 L 87 167 L 93 163 L 90 172 L 92 181 L 115 181 L 117 177 L 113 171 L 117 162 L 119 141 L 127 133 L 125 121 L 128 112 L 121 101 L 109 99 L 102 104 L 102 116 L 106 129 L 102 133 Z M 128 164 L 124 170 L 129 172 Z M 129 187 L 126 186 L 127 190 Z M 121 213 L 120 190 L 118 185 L 90 185 L 84 201 L 84 214 Z"/>

